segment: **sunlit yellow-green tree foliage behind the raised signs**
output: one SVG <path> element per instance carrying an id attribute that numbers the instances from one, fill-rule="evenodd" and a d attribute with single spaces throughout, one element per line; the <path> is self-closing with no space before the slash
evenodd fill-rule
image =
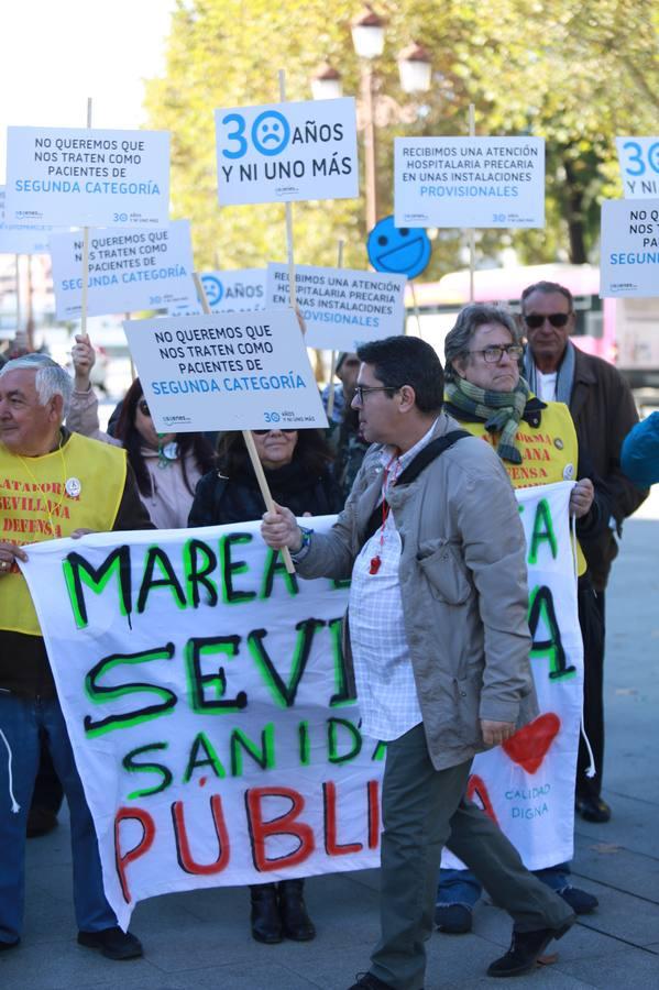
<path id="1" fill-rule="evenodd" d="M 657 133 L 659 13 L 655 0 L 381 0 L 386 46 L 375 64 L 381 105 L 395 100 L 411 123 L 377 130 L 378 215 L 393 209 L 393 139 L 468 133 L 534 134 L 547 141 L 547 228 L 482 231 L 481 256 L 513 243 L 527 263 L 584 261 L 598 237 L 600 201 L 620 195 L 616 134 Z M 164 78 L 147 82 L 150 125 L 172 131 L 175 217 L 193 221 L 196 263 L 263 265 L 285 258 L 284 207 L 217 201 L 216 108 L 309 99 L 319 63 L 359 92 L 348 0 L 178 0 Z M 431 53 L 433 85 L 400 90 L 396 55 L 410 41 Z M 361 188 L 363 189 L 363 182 Z M 299 264 L 366 267 L 363 199 L 294 205 Z M 459 231 L 442 231 L 424 278 L 460 267 Z"/>

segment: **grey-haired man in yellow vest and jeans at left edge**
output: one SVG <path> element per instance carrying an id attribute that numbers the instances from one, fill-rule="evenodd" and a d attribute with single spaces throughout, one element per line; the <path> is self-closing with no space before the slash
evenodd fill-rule
<path id="1" fill-rule="evenodd" d="M 125 451 L 63 428 L 72 388 L 43 354 L 0 370 L 0 952 L 21 937 L 25 820 L 45 739 L 70 811 L 78 943 L 128 959 L 142 946 L 117 926 L 103 893 L 94 822 L 17 564 L 41 540 L 152 528 Z"/>

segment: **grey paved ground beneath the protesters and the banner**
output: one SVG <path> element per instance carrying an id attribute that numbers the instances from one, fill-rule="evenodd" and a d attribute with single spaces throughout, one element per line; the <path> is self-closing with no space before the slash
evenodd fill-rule
<path id="1" fill-rule="evenodd" d="M 557 945 L 558 960 L 515 990 L 659 987 L 659 486 L 629 520 L 607 593 L 607 825 L 579 822 L 575 882 L 600 910 Z M 65 822 L 29 843 L 25 931 L 0 956 L 2 990 L 344 990 L 367 968 L 377 935 L 377 872 L 307 882 L 318 937 L 262 946 L 249 935 L 248 893 L 218 889 L 143 902 L 133 931 L 143 959 L 111 963 L 78 947 Z M 2 855 L 0 850 L 0 855 Z M 487 964 L 507 947 L 510 923 L 481 902 L 474 933 L 433 935 L 427 990 L 493 986 Z"/>

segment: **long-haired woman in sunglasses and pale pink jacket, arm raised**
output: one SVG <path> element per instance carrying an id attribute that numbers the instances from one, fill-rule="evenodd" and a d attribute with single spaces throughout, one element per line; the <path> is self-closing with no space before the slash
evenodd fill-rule
<path id="1" fill-rule="evenodd" d="M 68 428 L 124 447 L 153 525 L 157 529 L 186 527 L 197 482 L 215 463 L 210 443 L 201 433 L 157 433 L 139 378 L 124 396 L 117 437 L 103 433 L 99 429 L 98 398 L 90 384 L 96 354 L 88 338 L 76 337 L 72 356 L 75 385 Z"/>

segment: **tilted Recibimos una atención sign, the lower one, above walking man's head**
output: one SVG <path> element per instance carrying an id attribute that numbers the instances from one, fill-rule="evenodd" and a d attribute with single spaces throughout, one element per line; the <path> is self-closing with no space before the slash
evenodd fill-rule
<path id="1" fill-rule="evenodd" d="M 288 266 L 267 266 L 267 306 L 288 302 Z M 367 340 L 403 333 L 405 275 L 296 265 L 297 305 L 308 348 L 354 351 Z"/>

